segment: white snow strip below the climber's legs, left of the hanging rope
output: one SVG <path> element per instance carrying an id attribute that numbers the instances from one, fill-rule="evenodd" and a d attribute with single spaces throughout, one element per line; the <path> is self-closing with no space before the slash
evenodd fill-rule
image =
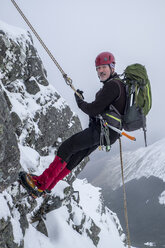
<path id="1" fill-rule="evenodd" d="M 74 182 L 73 186 L 75 190 L 79 191 L 80 205 L 84 213 L 89 215 L 96 225 L 101 228 L 100 242 L 97 247 L 123 247 L 121 238 L 119 238 L 118 231 L 115 228 L 116 223 L 112 212 L 106 208 L 106 213 L 102 213 L 100 188 L 92 186 L 86 180 L 79 179 Z"/>

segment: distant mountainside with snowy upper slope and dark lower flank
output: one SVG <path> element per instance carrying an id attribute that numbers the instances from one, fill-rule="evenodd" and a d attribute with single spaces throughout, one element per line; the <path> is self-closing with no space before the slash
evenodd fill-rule
<path id="1" fill-rule="evenodd" d="M 165 139 L 137 151 L 123 152 L 128 218 L 132 244 L 139 248 L 165 245 Z M 105 204 L 125 230 L 120 157 L 103 167 L 94 184 L 102 187 Z"/>

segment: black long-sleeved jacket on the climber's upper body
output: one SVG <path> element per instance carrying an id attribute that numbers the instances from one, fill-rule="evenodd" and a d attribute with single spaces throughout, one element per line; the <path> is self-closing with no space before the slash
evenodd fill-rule
<path id="1" fill-rule="evenodd" d="M 116 77 L 117 74 L 103 82 L 103 87 L 96 93 L 93 102 L 87 103 L 78 97 L 76 99 L 78 107 L 90 117 L 96 117 L 113 104 L 119 113 L 123 114 L 126 103 L 125 86 L 120 80 L 115 79 Z"/>

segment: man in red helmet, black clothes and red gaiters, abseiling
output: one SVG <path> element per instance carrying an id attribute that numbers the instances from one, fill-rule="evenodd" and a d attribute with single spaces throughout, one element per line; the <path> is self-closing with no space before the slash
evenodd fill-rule
<path id="1" fill-rule="evenodd" d="M 44 192 L 50 192 L 59 180 L 66 177 L 84 157 L 91 154 L 100 145 L 101 123 L 97 118 L 104 113 L 109 106 L 113 106 L 120 114 L 123 114 L 126 102 L 125 87 L 115 72 L 115 58 L 112 53 L 102 52 L 95 60 L 98 78 L 103 83 L 102 88 L 96 93 L 95 100 L 91 103 L 84 101 L 83 92 L 77 90 L 82 96 L 75 94 L 78 107 L 89 115 L 89 127 L 65 140 L 57 151 L 54 161 L 39 176 L 26 172 L 20 173 L 23 186 L 40 196 Z M 112 145 L 119 138 L 119 134 L 109 129 L 109 140 Z M 104 142 L 105 138 L 104 138 Z"/>

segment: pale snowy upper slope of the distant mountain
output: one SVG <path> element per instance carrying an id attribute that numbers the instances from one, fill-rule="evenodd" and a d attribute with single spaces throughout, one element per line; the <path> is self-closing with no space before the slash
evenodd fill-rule
<path id="1" fill-rule="evenodd" d="M 146 148 L 123 152 L 125 182 L 141 177 L 155 176 L 165 181 L 165 139 Z M 94 185 L 110 186 L 113 189 L 121 186 L 121 165 L 119 155 L 107 161 L 100 175 L 95 178 Z"/>

